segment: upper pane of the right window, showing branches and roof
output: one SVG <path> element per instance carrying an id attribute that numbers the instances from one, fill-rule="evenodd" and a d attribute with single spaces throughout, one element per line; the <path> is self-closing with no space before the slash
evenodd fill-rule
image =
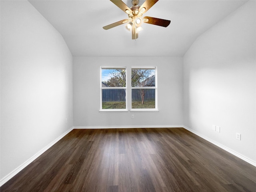
<path id="1" fill-rule="evenodd" d="M 154 87 L 155 69 L 132 69 L 132 87 Z"/>

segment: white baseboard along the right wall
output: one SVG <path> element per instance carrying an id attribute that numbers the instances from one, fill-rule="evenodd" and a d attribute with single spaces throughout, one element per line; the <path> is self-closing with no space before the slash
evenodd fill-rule
<path id="1" fill-rule="evenodd" d="M 238 152 L 236 152 L 236 151 L 234 151 L 234 150 L 232 150 L 232 149 L 230 149 L 230 148 L 228 148 L 228 147 L 226 147 L 226 146 L 224 146 L 224 145 L 222 145 L 222 144 L 220 144 L 220 143 L 218 143 L 218 142 L 216 142 L 216 141 L 214 141 L 214 140 L 212 140 L 212 139 L 210 139 L 210 138 L 208 138 L 208 137 L 206 137 L 206 136 L 204 136 L 204 135 L 202 135 L 202 134 L 200 134 L 200 133 L 198 133 L 198 132 L 196 132 L 196 131 L 188 128 L 188 127 L 186 127 L 186 126 L 182 126 L 182 127 L 185 128 L 186 130 L 196 134 L 197 136 L 207 140 L 208 142 L 211 142 L 212 144 L 214 144 L 214 145 L 224 149 L 225 151 L 233 154 L 234 156 L 237 156 L 238 158 L 252 164 L 253 166 L 256 166 L 256 162 L 254 160 L 249 159 L 246 156 L 243 156 L 242 154 L 240 154 L 240 153 L 238 153 Z"/>

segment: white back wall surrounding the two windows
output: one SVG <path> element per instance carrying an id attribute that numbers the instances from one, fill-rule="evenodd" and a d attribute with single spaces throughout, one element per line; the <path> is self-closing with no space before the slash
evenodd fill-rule
<path id="1" fill-rule="evenodd" d="M 182 58 L 74 57 L 73 65 L 74 126 L 183 125 Z M 99 112 L 100 66 L 127 66 L 127 70 L 131 66 L 157 66 L 159 112 Z"/>

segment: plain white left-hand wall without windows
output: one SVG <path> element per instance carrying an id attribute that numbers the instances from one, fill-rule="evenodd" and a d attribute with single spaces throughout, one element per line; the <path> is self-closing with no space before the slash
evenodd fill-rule
<path id="1" fill-rule="evenodd" d="M 28 1 L 0 2 L 2 180 L 69 130 L 73 115 L 64 39 Z"/>

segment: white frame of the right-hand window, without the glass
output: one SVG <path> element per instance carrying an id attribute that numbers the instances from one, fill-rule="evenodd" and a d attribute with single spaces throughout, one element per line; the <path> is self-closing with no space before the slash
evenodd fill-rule
<path id="1" fill-rule="evenodd" d="M 132 112 L 158 112 L 157 108 L 157 67 L 156 66 L 132 66 L 132 69 L 154 69 L 155 70 L 155 86 L 154 87 L 144 87 L 145 89 L 155 89 L 155 108 L 140 108 L 140 109 L 133 109 L 132 108 L 132 89 L 138 89 L 138 87 L 131 87 L 131 95 L 130 95 L 130 102 L 131 102 L 131 110 Z M 132 78 L 131 76 L 129 78 Z"/>

